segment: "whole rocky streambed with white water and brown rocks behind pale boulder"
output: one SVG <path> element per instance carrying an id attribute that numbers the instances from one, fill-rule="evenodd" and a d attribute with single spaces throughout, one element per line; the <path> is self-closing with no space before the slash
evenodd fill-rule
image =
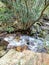
<path id="1" fill-rule="evenodd" d="M 0 57 L 4 56 L 10 49 L 19 52 L 30 50 L 38 53 L 48 53 L 49 41 L 28 35 L 7 34 L 4 37 L 0 36 Z"/>

